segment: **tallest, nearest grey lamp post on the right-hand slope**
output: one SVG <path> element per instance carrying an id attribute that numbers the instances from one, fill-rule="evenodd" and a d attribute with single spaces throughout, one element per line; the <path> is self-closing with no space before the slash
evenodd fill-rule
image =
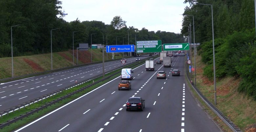
<path id="1" fill-rule="evenodd" d="M 212 5 L 210 4 L 200 4 L 200 3 L 196 3 L 199 5 L 207 5 L 207 6 L 211 6 L 212 9 Z M 256 4 L 256 3 L 255 3 Z M 255 18 L 256 20 L 256 18 Z M 215 51 L 214 51 L 214 30 L 213 30 L 213 11 L 212 11 L 212 50 L 213 50 L 213 76 L 214 76 L 214 102 L 215 105 L 217 105 L 217 98 L 216 98 L 216 78 L 215 78 Z"/>

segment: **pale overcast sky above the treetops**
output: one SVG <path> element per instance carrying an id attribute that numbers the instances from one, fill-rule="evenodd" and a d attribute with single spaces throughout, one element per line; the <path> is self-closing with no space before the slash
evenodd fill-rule
<path id="1" fill-rule="evenodd" d="M 67 22 L 102 21 L 110 24 L 115 16 L 121 16 L 127 27 L 141 30 L 181 32 L 184 0 L 61 0 Z"/>

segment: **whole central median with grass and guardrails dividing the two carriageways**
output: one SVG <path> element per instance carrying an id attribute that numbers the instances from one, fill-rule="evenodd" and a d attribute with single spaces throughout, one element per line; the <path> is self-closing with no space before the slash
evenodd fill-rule
<path id="1" fill-rule="evenodd" d="M 105 78 L 104 79 L 102 79 L 102 74 L 99 74 L 99 75 L 94 76 L 94 77 L 92 77 L 90 79 L 87 79 L 85 81 L 78 82 L 76 84 L 73 84 L 73 85 L 70 85 L 68 87 L 62 88 L 62 89 L 57 90 L 55 92 L 52 92 L 50 94 L 43 95 L 41 97 L 38 97 L 38 98 L 35 98 L 35 99 L 30 100 L 28 102 L 17 105 L 17 106 L 15 106 L 13 108 L 10 108 L 8 110 L 1 111 L 0 112 L 0 120 L 2 120 L 2 121 L 0 123 L 0 128 L 2 129 L 3 127 L 5 127 L 7 125 L 10 125 L 12 123 L 15 123 L 15 122 L 17 122 L 17 121 L 19 121 L 19 120 L 21 120 L 25 117 L 28 117 L 29 115 L 32 115 L 35 112 L 43 110 L 44 108 L 47 108 L 47 107 L 49 107 L 49 106 L 51 106 L 55 103 L 58 103 L 61 100 L 64 100 L 64 99 L 66 99 L 66 98 L 68 98 L 72 95 L 75 95 L 75 94 L 77 94 L 81 91 L 84 91 L 84 90 L 92 87 L 93 85 L 96 85 L 100 82 L 108 80 L 111 77 L 120 74 L 121 68 L 125 68 L 125 67 L 131 68 L 131 67 L 136 67 L 136 66 L 139 66 L 141 64 L 144 64 L 145 63 L 144 61 L 146 59 L 149 59 L 149 58 L 152 58 L 152 56 L 147 57 L 145 59 L 142 59 L 141 61 L 131 63 L 129 65 L 124 65 L 124 66 L 115 68 L 112 71 L 105 73 Z M 92 83 L 93 81 L 94 81 L 94 83 Z M 82 86 L 82 85 L 87 85 L 87 86 Z M 72 90 L 73 88 L 79 87 L 79 86 L 81 88 L 75 89 L 71 93 L 67 93 L 69 90 Z M 59 97 L 59 95 L 61 95 L 61 96 Z M 37 103 L 39 103 L 39 102 L 44 103 L 44 104 L 41 105 L 41 106 L 38 106 Z M 30 108 L 30 109 L 28 109 L 28 108 Z M 17 111 L 17 112 L 15 112 L 15 111 Z M 20 112 L 23 112 L 23 113 L 20 113 Z M 19 115 L 17 115 L 16 113 L 19 114 Z M 13 117 L 13 115 L 15 115 L 15 114 L 16 114 L 16 116 Z"/>

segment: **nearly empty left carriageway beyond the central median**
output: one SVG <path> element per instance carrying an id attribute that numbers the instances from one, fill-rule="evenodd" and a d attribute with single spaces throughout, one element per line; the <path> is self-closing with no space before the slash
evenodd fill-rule
<path id="1" fill-rule="evenodd" d="M 141 56 L 140 58 L 145 57 L 148 56 Z M 106 62 L 104 63 L 105 72 L 135 62 L 135 59 L 136 57 L 127 58 L 126 64 L 121 64 L 121 59 Z M 100 73 L 102 73 L 102 63 L 6 82 L 0 85 L 0 111 L 65 88 L 74 84 L 75 81 L 79 82 L 92 78 Z"/>

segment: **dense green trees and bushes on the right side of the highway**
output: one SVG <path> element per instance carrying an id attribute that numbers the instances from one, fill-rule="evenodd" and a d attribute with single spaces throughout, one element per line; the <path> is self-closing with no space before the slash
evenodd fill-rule
<path id="1" fill-rule="evenodd" d="M 194 16 L 195 41 L 201 43 L 199 54 L 207 64 L 203 74 L 213 79 L 212 12 L 211 6 L 193 3 L 213 7 L 216 77 L 241 77 L 239 91 L 256 99 L 254 0 L 185 0 L 184 3 L 190 3 L 184 15 Z M 193 17 L 184 16 L 183 21 L 193 23 Z M 187 36 L 185 25 L 188 23 L 183 22 L 181 33 Z"/>

